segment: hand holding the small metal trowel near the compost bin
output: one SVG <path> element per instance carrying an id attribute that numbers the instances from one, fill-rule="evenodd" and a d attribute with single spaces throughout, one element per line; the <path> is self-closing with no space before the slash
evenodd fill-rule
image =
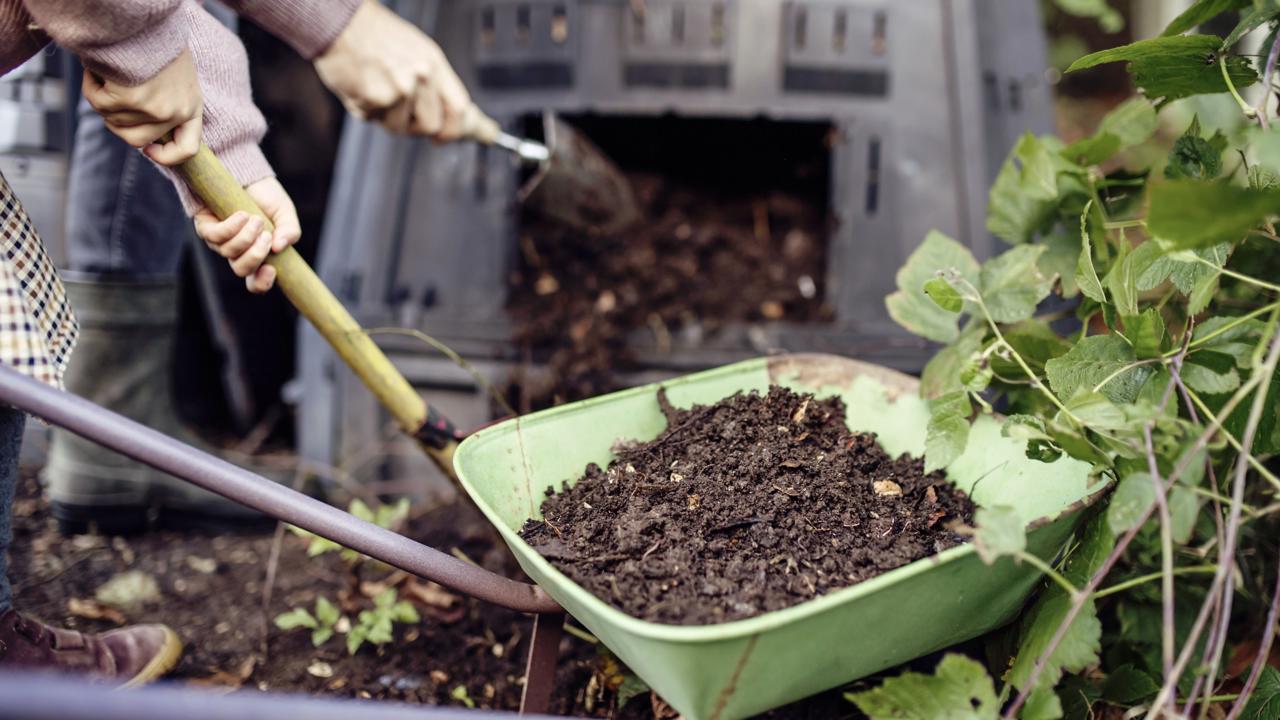
<path id="1" fill-rule="evenodd" d="M 438 141 L 462 136 L 471 96 L 444 51 L 376 0 L 360 5 L 315 68 L 357 118 Z"/>

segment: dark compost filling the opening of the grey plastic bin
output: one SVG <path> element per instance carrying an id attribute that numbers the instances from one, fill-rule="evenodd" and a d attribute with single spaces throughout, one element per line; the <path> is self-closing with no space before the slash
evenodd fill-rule
<path id="1" fill-rule="evenodd" d="M 521 411 L 617 389 L 616 374 L 635 368 L 637 334 L 663 352 L 731 323 L 831 318 L 820 204 L 628 178 L 645 219 L 620 234 L 522 218 L 508 314 L 525 357 L 550 372 L 516 378 L 511 395 Z"/>

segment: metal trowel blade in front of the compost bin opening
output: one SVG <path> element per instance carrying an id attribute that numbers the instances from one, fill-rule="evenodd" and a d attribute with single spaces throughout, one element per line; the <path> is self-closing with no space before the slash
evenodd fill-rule
<path id="1" fill-rule="evenodd" d="M 599 147 L 554 113 L 544 113 L 543 124 L 550 159 L 520 190 L 526 206 L 600 234 L 640 219 L 631 183 Z"/>

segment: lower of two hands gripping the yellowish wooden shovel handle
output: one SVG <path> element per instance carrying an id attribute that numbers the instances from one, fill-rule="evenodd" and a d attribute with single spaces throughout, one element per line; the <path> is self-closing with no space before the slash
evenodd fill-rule
<path id="1" fill-rule="evenodd" d="M 302 227 L 293 200 L 275 178 L 257 181 L 244 190 L 271 219 L 273 232 L 266 232 L 257 215 L 237 211 L 219 220 L 207 208 L 201 208 L 193 218 L 196 234 L 210 250 L 227 258 L 232 270 L 244 278 L 250 292 L 266 292 L 275 284 L 275 268 L 266 264 L 268 255 L 297 242 Z"/>

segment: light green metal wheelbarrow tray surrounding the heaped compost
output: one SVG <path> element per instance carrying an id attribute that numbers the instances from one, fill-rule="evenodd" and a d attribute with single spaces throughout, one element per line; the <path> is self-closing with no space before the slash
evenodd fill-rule
<path id="1" fill-rule="evenodd" d="M 829 355 L 748 360 L 516 418 L 467 438 L 454 468 L 462 487 L 502 533 L 521 568 L 686 720 L 733 720 L 785 705 L 955 644 L 1011 620 L 1039 573 L 972 544 L 918 560 L 801 605 L 717 625 L 666 625 L 626 615 L 543 559 L 518 530 L 548 488 L 604 466 L 618 439 L 666 428 L 657 389 L 680 407 L 782 384 L 838 395 L 852 430 L 874 432 L 890 455 L 924 452 L 929 413 L 919 383 L 901 373 Z M 979 506 L 1007 505 L 1033 529 L 1028 550 L 1056 556 L 1101 486 L 1068 457 L 1028 460 L 1024 443 L 980 416 L 948 479 Z"/>

